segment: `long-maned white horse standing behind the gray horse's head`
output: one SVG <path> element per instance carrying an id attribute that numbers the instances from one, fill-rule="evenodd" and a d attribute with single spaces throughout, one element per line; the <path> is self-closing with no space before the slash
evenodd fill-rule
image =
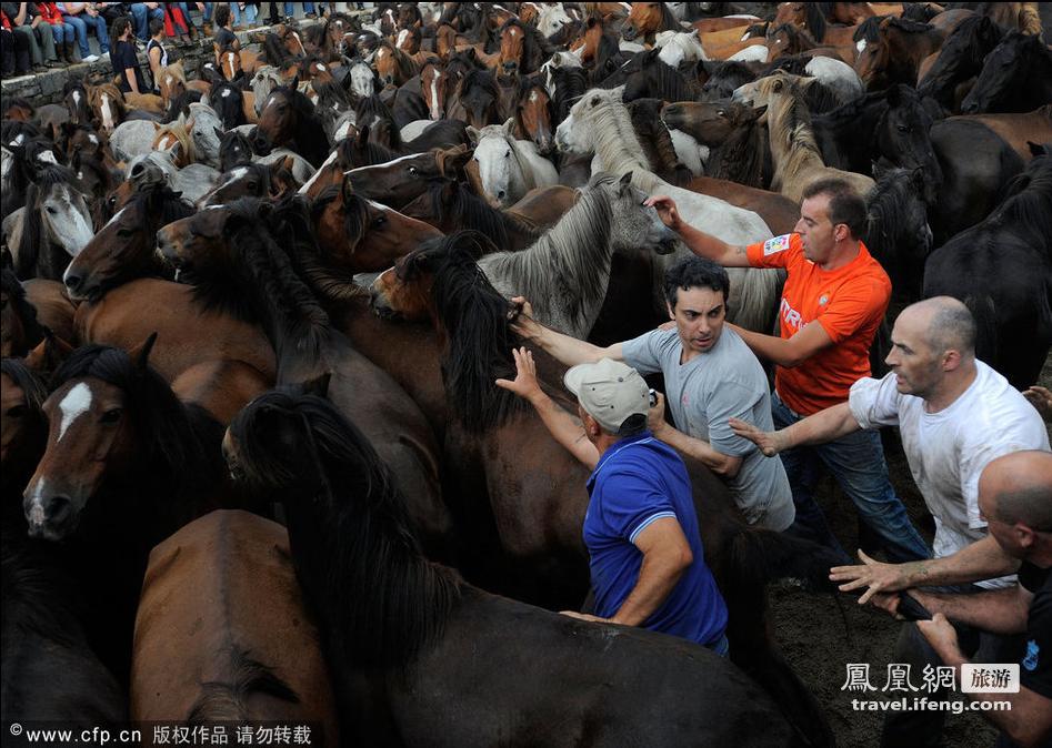
<path id="1" fill-rule="evenodd" d="M 727 201 L 691 192 L 669 184 L 649 170 L 628 109 L 621 101 L 623 87 L 592 89 L 570 110 L 555 131 L 560 150 L 574 153 L 595 152 L 602 168 L 615 174 L 632 172 L 632 182 L 647 194 L 672 198 L 680 215 L 729 244 L 751 244 L 771 237 L 771 230 L 759 215 Z M 688 253 L 685 249 L 678 255 Z M 728 299 L 731 322 L 769 333 L 778 309 L 780 276 L 775 271 L 729 269 L 731 293 Z M 661 290 L 654 289 L 660 302 Z"/>

